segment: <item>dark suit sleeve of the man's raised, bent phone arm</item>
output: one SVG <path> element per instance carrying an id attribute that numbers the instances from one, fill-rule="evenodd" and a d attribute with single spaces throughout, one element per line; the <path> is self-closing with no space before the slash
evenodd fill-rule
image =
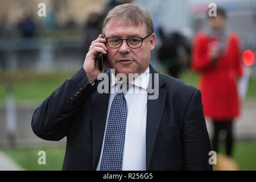
<path id="1" fill-rule="evenodd" d="M 72 117 L 82 103 L 96 90 L 83 68 L 68 78 L 35 110 L 31 127 L 34 133 L 46 140 L 60 140 L 67 135 Z"/>

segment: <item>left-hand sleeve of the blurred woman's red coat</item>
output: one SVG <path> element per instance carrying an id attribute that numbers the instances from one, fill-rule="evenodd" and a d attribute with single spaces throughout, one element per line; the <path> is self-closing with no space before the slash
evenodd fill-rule
<path id="1" fill-rule="evenodd" d="M 213 61 L 210 60 L 208 55 L 208 41 L 207 37 L 203 34 L 195 36 L 192 46 L 192 62 L 191 69 L 193 71 L 204 71 L 211 68 Z"/>

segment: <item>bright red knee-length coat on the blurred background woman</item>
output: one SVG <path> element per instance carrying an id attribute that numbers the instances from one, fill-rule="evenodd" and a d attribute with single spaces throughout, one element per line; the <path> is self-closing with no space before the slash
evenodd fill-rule
<path id="1" fill-rule="evenodd" d="M 236 86 L 237 76 L 242 75 L 240 41 L 234 33 L 227 38 L 225 51 L 216 64 L 209 58 L 210 39 L 206 34 L 197 34 L 192 46 L 191 68 L 201 73 L 204 115 L 214 120 L 233 119 L 240 114 Z"/>

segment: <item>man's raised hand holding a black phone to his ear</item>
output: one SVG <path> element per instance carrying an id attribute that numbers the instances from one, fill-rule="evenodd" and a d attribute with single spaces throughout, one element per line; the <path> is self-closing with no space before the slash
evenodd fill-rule
<path id="1" fill-rule="evenodd" d="M 86 72 L 90 84 L 92 84 L 100 73 L 103 73 L 106 68 L 106 61 L 102 72 L 98 69 L 98 53 L 106 54 L 108 48 L 106 47 L 106 40 L 102 38 L 100 34 L 96 40 L 94 40 L 90 46 L 88 53 L 86 54 L 83 68 Z"/>

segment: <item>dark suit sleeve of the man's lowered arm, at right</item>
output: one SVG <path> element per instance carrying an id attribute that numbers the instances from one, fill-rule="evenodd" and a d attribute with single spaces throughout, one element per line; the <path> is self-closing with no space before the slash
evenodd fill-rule
<path id="1" fill-rule="evenodd" d="M 201 92 L 196 89 L 188 104 L 182 127 L 182 145 L 185 170 L 212 170 L 210 140 L 204 118 Z"/>

